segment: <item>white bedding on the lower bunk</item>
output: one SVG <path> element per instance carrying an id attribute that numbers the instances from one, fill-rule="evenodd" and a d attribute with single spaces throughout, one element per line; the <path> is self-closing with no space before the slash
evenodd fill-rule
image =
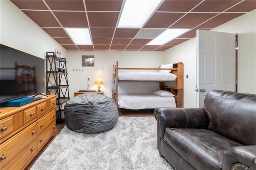
<path id="1" fill-rule="evenodd" d="M 176 107 L 176 103 L 174 97 L 161 97 L 153 93 L 118 94 L 118 107 L 132 110 L 155 109 L 158 107 Z"/>

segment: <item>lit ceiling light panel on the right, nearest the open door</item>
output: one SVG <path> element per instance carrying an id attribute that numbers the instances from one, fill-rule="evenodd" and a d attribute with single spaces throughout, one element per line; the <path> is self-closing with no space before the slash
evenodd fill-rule
<path id="1" fill-rule="evenodd" d="M 184 34 L 190 29 L 168 29 L 162 34 L 157 36 L 154 40 L 149 42 L 147 45 L 164 45 L 165 43 L 173 40 L 174 38 Z"/>

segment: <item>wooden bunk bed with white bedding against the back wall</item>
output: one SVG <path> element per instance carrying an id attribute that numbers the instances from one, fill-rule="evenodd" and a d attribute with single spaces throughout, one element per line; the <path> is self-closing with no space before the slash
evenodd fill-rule
<path id="1" fill-rule="evenodd" d="M 119 70 L 126 71 L 121 72 Z M 166 71 L 160 70 L 169 71 L 162 73 Z M 171 73 L 169 73 L 170 71 Z M 182 62 L 173 63 L 173 68 L 120 68 L 118 67 L 118 61 L 116 61 L 116 65 L 113 65 L 112 81 L 112 98 L 118 107 L 119 114 L 121 111 L 127 113 L 127 110 L 131 112 L 140 110 L 140 113 L 143 113 L 143 110 L 158 107 L 183 107 Z M 159 91 L 150 94 L 118 94 L 118 82 L 120 81 L 159 82 Z M 172 83 L 174 85 L 170 87 L 168 82 L 174 82 Z"/>

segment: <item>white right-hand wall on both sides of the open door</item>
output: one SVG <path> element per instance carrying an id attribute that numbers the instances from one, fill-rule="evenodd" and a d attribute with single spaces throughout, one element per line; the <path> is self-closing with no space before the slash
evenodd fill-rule
<path id="1" fill-rule="evenodd" d="M 238 34 L 238 91 L 256 94 L 256 10 L 244 14 L 212 31 L 233 32 Z M 196 106 L 196 38 L 181 43 L 165 51 L 166 63 L 184 63 L 184 107 Z M 188 79 L 186 75 L 188 74 Z"/>

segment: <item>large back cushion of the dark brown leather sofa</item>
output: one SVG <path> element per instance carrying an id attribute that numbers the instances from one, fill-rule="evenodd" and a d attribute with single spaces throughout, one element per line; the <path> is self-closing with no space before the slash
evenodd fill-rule
<path id="1" fill-rule="evenodd" d="M 204 109 L 210 130 L 246 145 L 256 144 L 256 95 L 211 90 Z"/>

